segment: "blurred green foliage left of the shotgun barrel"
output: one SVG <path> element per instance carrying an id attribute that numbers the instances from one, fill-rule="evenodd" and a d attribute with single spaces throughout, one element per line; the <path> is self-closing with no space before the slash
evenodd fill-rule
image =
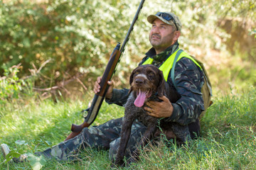
<path id="1" fill-rule="evenodd" d="M 56 81 L 63 79 L 65 72 L 97 77 L 114 46 L 124 40 L 132 20 L 120 15 L 129 11 L 127 4 L 116 5 L 90 0 L 1 2 L 0 39 L 4 41 L 0 42 L 0 63 L 7 67 L 22 63 L 22 74 L 28 74 L 31 63 L 38 68 L 51 59 L 42 74 L 53 74 Z"/>

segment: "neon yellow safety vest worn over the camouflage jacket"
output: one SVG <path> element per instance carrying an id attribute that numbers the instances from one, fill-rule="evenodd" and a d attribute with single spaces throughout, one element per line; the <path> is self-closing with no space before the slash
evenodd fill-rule
<path id="1" fill-rule="evenodd" d="M 178 48 L 178 50 L 180 50 Z M 165 81 L 167 81 L 168 79 L 168 76 L 169 76 L 169 72 L 171 70 L 171 68 L 173 67 L 173 64 L 174 64 L 174 59 L 175 59 L 175 56 L 176 56 L 176 53 L 178 52 L 178 50 L 176 50 L 170 57 L 168 57 L 168 59 L 163 63 L 161 64 L 161 66 L 159 67 L 159 69 L 163 72 L 164 74 L 164 79 Z M 181 54 L 178 56 L 178 60 L 180 60 L 182 57 L 187 57 L 189 58 L 190 60 L 192 60 L 198 67 L 201 68 L 200 64 L 198 64 L 198 62 L 196 62 L 196 60 L 194 60 L 190 55 L 188 55 L 186 52 L 181 52 Z M 177 60 L 177 62 L 178 62 Z M 153 59 L 152 58 L 148 58 L 142 65 L 144 64 L 152 64 L 153 62 Z"/>

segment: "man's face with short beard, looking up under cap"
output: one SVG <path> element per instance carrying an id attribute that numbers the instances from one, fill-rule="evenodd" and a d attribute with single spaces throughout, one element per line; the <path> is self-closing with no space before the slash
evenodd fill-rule
<path id="1" fill-rule="evenodd" d="M 178 32 L 178 35 L 177 35 Z M 152 23 L 152 28 L 149 33 L 149 41 L 156 50 L 156 53 L 166 50 L 178 40 L 180 33 L 173 26 L 170 26 L 156 18 Z"/>

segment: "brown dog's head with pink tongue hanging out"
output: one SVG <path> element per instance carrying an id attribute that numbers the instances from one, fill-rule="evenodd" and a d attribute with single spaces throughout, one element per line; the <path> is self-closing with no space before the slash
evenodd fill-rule
<path id="1" fill-rule="evenodd" d="M 142 107 L 146 98 L 157 93 L 158 96 L 164 94 L 164 75 L 161 70 L 151 64 L 145 64 L 132 71 L 129 79 L 131 91 L 135 91 L 135 106 Z"/>

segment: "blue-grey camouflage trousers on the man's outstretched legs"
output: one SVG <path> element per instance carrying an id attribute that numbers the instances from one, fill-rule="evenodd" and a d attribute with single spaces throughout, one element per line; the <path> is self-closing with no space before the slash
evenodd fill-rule
<path id="1" fill-rule="evenodd" d="M 82 149 L 97 148 L 109 149 L 109 158 L 114 160 L 119 147 L 122 122 L 124 118 L 108 121 L 102 125 L 84 128 L 82 132 L 73 139 L 60 142 L 58 145 L 50 147 L 43 152 L 36 152 L 36 155 L 43 155 L 46 159 L 69 160 L 74 159 L 75 155 Z M 134 121 L 132 125 L 131 137 L 127 144 L 126 157 L 129 158 L 137 147 L 137 143 L 142 139 L 146 126 Z"/>

